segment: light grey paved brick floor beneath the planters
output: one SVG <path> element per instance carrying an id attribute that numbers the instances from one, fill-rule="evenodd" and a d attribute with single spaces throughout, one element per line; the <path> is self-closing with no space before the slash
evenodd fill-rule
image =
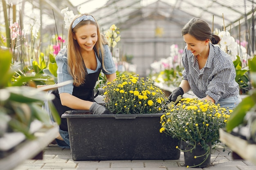
<path id="1" fill-rule="evenodd" d="M 213 149 L 212 165 L 208 168 L 190 168 L 193 170 L 256 170 L 249 161 L 233 159 L 229 148 L 222 146 Z M 27 160 L 15 170 L 186 170 L 184 155 L 178 160 L 122 160 L 122 161 L 73 161 L 70 149 L 50 144 L 45 148 L 43 159 Z"/>

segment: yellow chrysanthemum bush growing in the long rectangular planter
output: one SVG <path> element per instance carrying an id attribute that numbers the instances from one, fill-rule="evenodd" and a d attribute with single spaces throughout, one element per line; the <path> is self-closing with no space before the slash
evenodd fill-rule
<path id="1" fill-rule="evenodd" d="M 168 99 L 150 79 L 121 75 L 105 87 L 106 108 L 115 114 L 162 113 Z"/>

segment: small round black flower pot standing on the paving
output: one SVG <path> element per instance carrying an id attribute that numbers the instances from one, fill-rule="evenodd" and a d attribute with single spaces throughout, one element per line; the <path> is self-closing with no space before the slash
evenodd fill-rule
<path id="1" fill-rule="evenodd" d="M 207 144 L 209 150 L 205 150 L 199 144 L 194 146 L 187 144 L 185 141 L 181 142 L 181 149 L 184 150 L 185 166 L 191 168 L 205 168 L 211 165 L 211 142 Z"/>

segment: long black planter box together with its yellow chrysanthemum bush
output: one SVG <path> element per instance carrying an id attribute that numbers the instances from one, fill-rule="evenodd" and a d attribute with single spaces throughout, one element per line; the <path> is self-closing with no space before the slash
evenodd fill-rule
<path id="1" fill-rule="evenodd" d="M 83 114 L 71 110 L 67 118 L 72 159 L 179 159 L 179 139 L 159 133 L 159 119 L 168 102 L 150 79 L 121 75 L 106 84 L 106 108 L 113 114 Z"/>

